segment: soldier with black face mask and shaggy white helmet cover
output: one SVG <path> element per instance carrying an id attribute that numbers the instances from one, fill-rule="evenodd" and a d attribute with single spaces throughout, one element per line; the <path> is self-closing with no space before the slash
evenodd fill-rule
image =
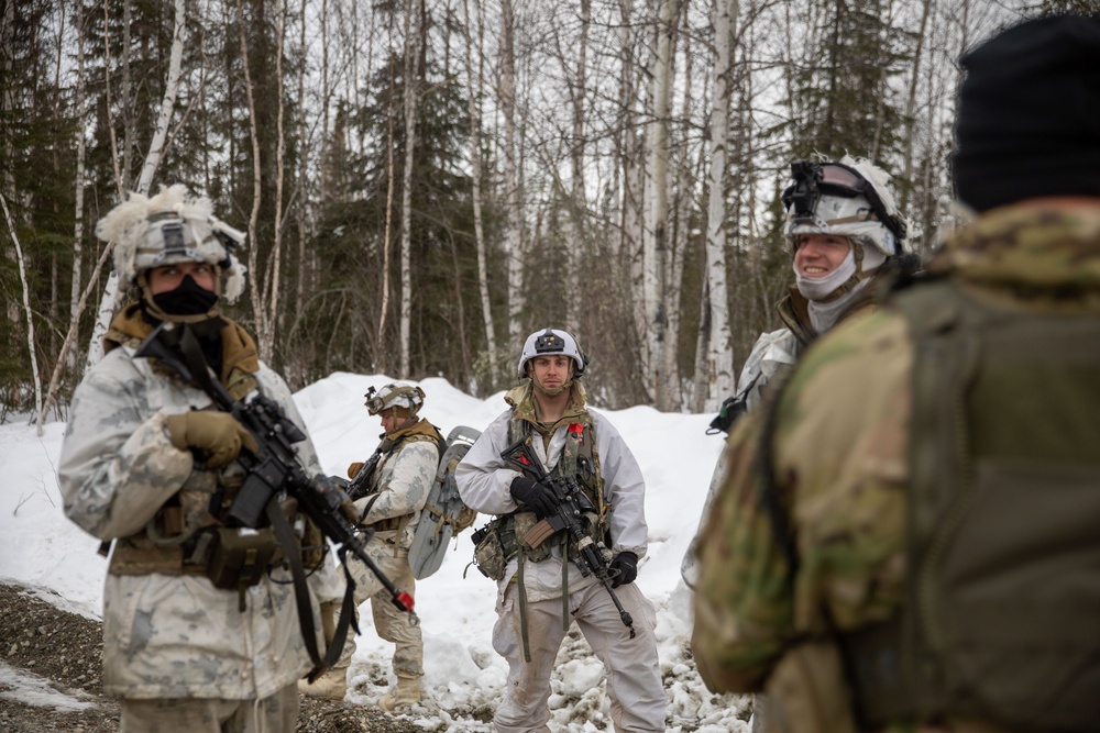
<path id="1" fill-rule="evenodd" d="M 97 233 L 117 242 L 122 287 L 141 292 L 112 322 L 103 359 L 74 395 L 58 469 L 66 515 L 114 541 L 103 590 L 103 687 L 121 698 L 122 731 L 289 733 L 296 682 L 310 668 L 289 573 L 273 562 L 233 588 L 208 577 L 215 538 L 243 538 L 219 534 L 219 498 L 241 485 L 234 458 L 255 442 L 206 392 L 134 356 L 161 321 L 187 324 L 234 398 L 261 390 L 301 425 L 251 336 L 219 315 L 222 275 L 227 297 L 244 285 L 229 246 L 243 236 L 183 186 L 152 198 L 132 193 Z M 317 473 L 309 440 L 296 447 Z M 310 590 L 315 607 L 341 592 L 326 571 Z"/>

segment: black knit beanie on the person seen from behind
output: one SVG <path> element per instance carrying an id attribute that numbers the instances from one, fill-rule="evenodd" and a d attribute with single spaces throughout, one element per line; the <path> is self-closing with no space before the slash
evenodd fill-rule
<path id="1" fill-rule="evenodd" d="M 1027 21 L 960 64 L 959 200 L 986 211 L 1043 196 L 1100 197 L 1100 19 Z"/>

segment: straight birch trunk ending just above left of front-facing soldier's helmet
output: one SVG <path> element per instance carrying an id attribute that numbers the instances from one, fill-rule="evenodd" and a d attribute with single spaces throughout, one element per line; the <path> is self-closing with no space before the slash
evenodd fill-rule
<path id="1" fill-rule="evenodd" d="M 516 46 L 512 0 L 501 0 L 501 115 L 504 119 L 504 249 L 508 257 L 508 352 L 522 346 L 524 244 L 516 166 Z"/>

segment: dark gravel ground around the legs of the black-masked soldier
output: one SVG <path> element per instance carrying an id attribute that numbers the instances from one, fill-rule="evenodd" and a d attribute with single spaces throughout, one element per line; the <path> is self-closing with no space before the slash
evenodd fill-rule
<path id="1" fill-rule="evenodd" d="M 88 703 L 84 709 L 32 706 L 10 699 L 0 669 L 0 731 L 3 733 L 117 733 L 119 704 L 103 697 L 100 680 L 102 630 L 98 621 L 68 613 L 19 586 L 0 585 L 0 664 L 21 677 L 43 679 L 55 690 Z M 343 702 L 301 698 L 295 733 L 422 733 L 409 720 Z"/>

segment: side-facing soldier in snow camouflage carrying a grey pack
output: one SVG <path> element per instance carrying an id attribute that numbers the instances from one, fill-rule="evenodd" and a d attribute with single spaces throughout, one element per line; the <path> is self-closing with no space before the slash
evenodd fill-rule
<path id="1" fill-rule="evenodd" d="M 409 546 L 420 521 L 420 512 L 428 492 L 436 480 L 439 452 L 443 436 L 436 426 L 417 413 L 424 406 L 424 391 L 408 385 L 386 385 L 366 396 L 366 407 L 372 415 L 382 420 L 385 433 L 378 445 L 376 458 L 364 468 L 354 463 L 348 467 L 352 478 L 365 480 L 367 491 L 355 507 L 362 514 L 364 527 L 374 531 L 366 545 L 375 565 L 391 580 L 416 591 L 416 579 L 409 567 Z M 361 470 L 370 475 L 360 476 Z M 371 601 L 374 626 L 378 635 L 395 644 L 393 667 L 397 685 L 378 701 L 383 710 L 394 710 L 420 701 L 420 678 L 424 677 L 424 641 L 415 617 L 396 609 L 389 595 L 367 567 L 355 558 L 349 559 L 349 569 L 355 580 L 355 603 Z M 328 618 L 339 612 L 338 604 L 324 609 Z M 348 668 L 355 651 L 355 640 L 349 637 L 340 662 L 311 685 L 302 681 L 299 688 L 311 697 L 343 699 L 348 691 Z"/>

